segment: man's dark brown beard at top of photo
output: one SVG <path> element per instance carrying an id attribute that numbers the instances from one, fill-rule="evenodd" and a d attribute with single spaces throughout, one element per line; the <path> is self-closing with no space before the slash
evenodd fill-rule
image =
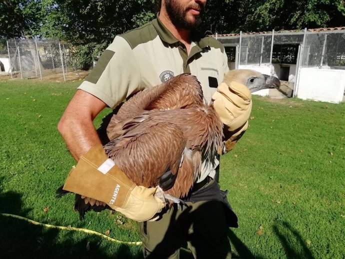
<path id="1" fill-rule="evenodd" d="M 197 5 L 197 6 L 195 6 Z M 181 6 L 178 0 L 165 0 L 165 9 L 170 17 L 173 25 L 177 28 L 183 29 L 195 29 L 200 25 L 202 21 L 202 14 L 204 13 L 204 6 L 199 3 L 195 3 L 194 6 L 187 6 L 186 8 Z M 194 16 L 194 20 L 187 20 L 186 13 L 189 8 L 199 8 L 200 14 Z"/>

